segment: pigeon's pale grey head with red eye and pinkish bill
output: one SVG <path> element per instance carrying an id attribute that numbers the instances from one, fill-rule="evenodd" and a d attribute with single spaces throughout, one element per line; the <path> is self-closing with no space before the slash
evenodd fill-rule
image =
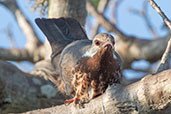
<path id="1" fill-rule="evenodd" d="M 111 46 L 114 50 L 115 39 L 112 35 L 107 33 L 97 34 L 92 40 L 91 48 L 83 55 L 92 57 L 100 48 Z"/>

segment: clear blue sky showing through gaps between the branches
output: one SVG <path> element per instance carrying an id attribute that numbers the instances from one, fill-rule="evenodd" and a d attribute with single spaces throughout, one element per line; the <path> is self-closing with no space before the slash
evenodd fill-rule
<path id="1" fill-rule="evenodd" d="M 163 10 L 163 12 L 168 16 L 169 19 L 171 19 L 171 0 L 155 0 L 157 4 L 160 6 L 160 8 Z M 24 15 L 29 19 L 29 21 L 33 24 L 35 31 L 38 33 L 39 37 L 42 41 L 44 41 L 45 36 L 40 31 L 40 29 L 35 25 L 35 18 L 42 17 L 39 15 L 38 12 L 34 12 L 31 10 L 31 4 L 29 3 L 29 0 L 17 0 L 20 8 L 24 12 Z M 130 13 L 129 9 L 136 9 L 141 10 L 142 4 L 144 0 L 122 0 L 120 6 L 118 7 L 118 15 L 117 15 L 117 27 L 122 30 L 127 35 L 133 35 L 137 36 L 143 39 L 153 39 L 151 32 L 149 32 L 149 29 L 146 27 L 145 22 L 141 16 L 135 15 L 133 13 Z M 162 29 L 163 27 L 163 20 L 162 18 L 156 13 L 154 9 L 151 8 L 150 4 L 148 4 L 148 16 L 149 19 L 154 26 L 154 29 L 158 36 L 162 37 L 167 34 L 166 29 Z M 112 10 L 109 7 L 106 12 L 105 16 L 109 17 L 112 15 Z M 8 35 L 5 33 L 7 28 L 10 28 L 12 31 L 12 36 L 14 38 L 13 42 L 17 48 L 23 48 L 26 39 L 24 34 L 22 33 L 21 29 L 18 27 L 13 15 L 11 14 L 8 9 L 6 9 L 4 6 L 0 5 L 0 48 L 11 48 L 11 41 L 8 38 Z M 46 17 L 46 16 L 44 16 Z M 95 19 L 91 17 L 87 17 L 87 19 L 91 20 L 90 23 L 93 24 Z M 86 26 L 86 31 L 88 33 L 88 36 L 90 36 L 90 30 L 88 30 L 88 27 Z M 106 32 L 102 27 L 100 28 L 100 32 Z M 33 69 L 33 65 L 29 62 L 12 62 L 15 64 L 18 68 L 29 72 Z M 134 62 L 133 67 L 135 68 L 145 68 L 149 65 L 148 62 L 141 60 Z M 156 64 L 154 64 L 153 67 L 156 67 Z M 131 79 L 135 76 L 143 76 L 144 73 L 135 73 L 133 71 L 127 70 L 124 72 L 126 74 L 127 78 Z"/>

